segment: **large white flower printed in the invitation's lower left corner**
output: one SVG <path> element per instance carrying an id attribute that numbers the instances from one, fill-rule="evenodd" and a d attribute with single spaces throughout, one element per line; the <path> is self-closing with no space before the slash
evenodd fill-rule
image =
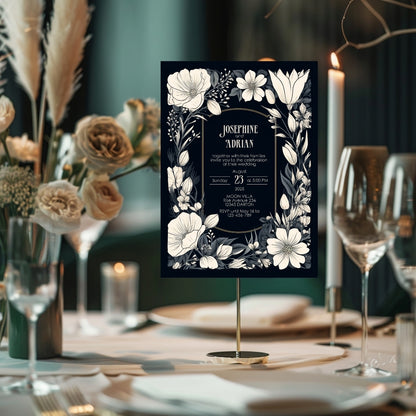
<path id="1" fill-rule="evenodd" d="M 204 231 L 205 225 L 198 214 L 182 212 L 168 224 L 168 253 L 178 257 L 195 249 Z"/>

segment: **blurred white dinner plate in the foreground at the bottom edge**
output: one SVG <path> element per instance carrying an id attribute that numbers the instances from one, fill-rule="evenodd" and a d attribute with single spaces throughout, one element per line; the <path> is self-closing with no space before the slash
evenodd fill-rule
<path id="1" fill-rule="evenodd" d="M 204 374 L 201 376 L 202 381 Z M 265 370 L 222 371 L 216 376 L 222 379 L 219 384 L 224 393 L 218 394 L 215 383 L 208 383 L 203 390 L 199 387 L 196 393 L 194 390 L 198 387 L 194 380 L 198 375 L 195 374 L 146 376 L 155 377 L 155 385 L 162 387 L 157 387 L 150 395 L 144 394 L 135 388 L 135 383 L 140 380 L 133 378 L 105 389 L 99 401 L 114 411 L 135 415 L 323 416 L 363 411 L 384 404 L 390 398 L 384 384 L 355 377 Z M 162 382 L 161 377 L 164 377 Z M 181 377 L 181 385 L 185 388 L 189 386 L 189 395 L 182 391 L 178 399 L 174 399 L 167 390 L 169 377 L 172 377 L 172 383 L 177 383 L 178 377 Z M 223 386 L 227 381 L 231 382 L 228 388 Z M 230 397 L 227 394 L 230 392 L 234 393 L 234 400 L 227 405 L 227 397 Z M 247 395 L 247 392 L 251 394 Z M 160 400 L 158 397 L 170 399 Z M 241 403 L 238 398 L 241 398 Z M 200 403 L 199 411 L 196 410 L 196 401 Z"/>

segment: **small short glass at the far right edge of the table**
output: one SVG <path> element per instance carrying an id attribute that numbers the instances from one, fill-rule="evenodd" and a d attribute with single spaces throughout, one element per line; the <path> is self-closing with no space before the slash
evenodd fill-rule
<path id="1" fill-rule="evenodd" d="M 413 380 L 414 317 L 411 313 L 396 316 L 397 375 L 402 386 L 409 386 Z"/>

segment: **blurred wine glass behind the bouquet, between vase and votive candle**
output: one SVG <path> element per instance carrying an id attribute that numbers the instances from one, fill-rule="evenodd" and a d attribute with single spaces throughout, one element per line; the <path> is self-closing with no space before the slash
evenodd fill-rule
<path id="1" fill-rule="evenodd" d="M 77 330 L 82 335 L 98 335 L 99 330 L 87 319 L 87 266 L 91 247 L 100 238 L 108 221 L 96 220 L 87 214 L 81 216 L 81 225 L 65 234 L 77 255 Z"/>

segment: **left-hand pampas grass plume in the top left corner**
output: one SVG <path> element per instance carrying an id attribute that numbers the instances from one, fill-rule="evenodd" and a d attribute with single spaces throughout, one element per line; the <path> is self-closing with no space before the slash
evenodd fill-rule
<path id="1" fill-rule="evenodd" d="M 35 102 L 41 74 L 43 0 L 0 0 L 0 7 L 4 26 L 0 41 L 10 52 L 18 82 Z"/>

